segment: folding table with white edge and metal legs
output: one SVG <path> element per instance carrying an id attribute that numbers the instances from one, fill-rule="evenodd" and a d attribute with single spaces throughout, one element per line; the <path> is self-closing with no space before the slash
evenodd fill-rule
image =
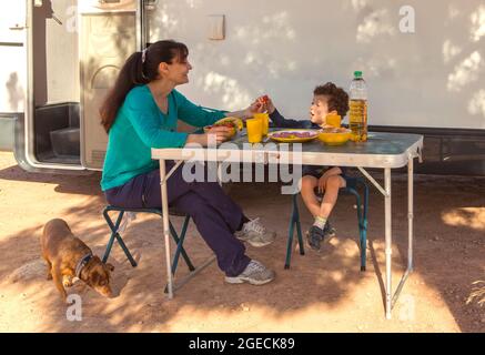
<path id="1" fill-rule="evenodd" d="M 385 200 L 385 315 L 391 318 L 391 311 L 413 271 L 413 163 L 420 158 L 423 149 L 423 136 L 418 134 L 370 132 L 365 143 L 348 142 L 341 146 L 327 146 L 320 141 L 303 143 L 301 150 L 291 149 L 284 154 L 264 149 L 264 144 L 250 146 L 245 134 L 236 136 L 229 148 L 183 148 L 183 149 L 152 149 L 152 159 L 160 161 L 161 199 L 163 210 L 163 233 L 165 241 L 165 258 L 168 272 L 169 297 L 173 297 L 173 275 L 170 268 L 170 230 L 169 204 L 166 195 L 166 179 L 184 161 L 200 160 L 228 162 L 269 161 L 279 164 L 301 163 L 307 165 L 331 165 L 357 168 L 384 195 Z M 166 174 L 166 160 L 174 160 L 176 164 Z M 392 210 L 391 210 L 391 170 L 407 165 L 407 221 L 408 221 L 408 252 L 407 268 L 401 278 L 396 292 L 392 293 Z M 376 182 L 365 169 L 384 170 L 384 187 Z"/>

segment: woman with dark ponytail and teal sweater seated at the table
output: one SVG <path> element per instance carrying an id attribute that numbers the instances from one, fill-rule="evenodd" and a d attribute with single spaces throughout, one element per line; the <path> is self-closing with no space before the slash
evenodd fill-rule
<path id="1" fill-rule="evenodd" d="M 101 187 L 110 204 L 161 207 L 159 162 L 151 159 L 151 148 L 182 148 L 190 143 L 205 146 L 210 136 L 218 143 L 230 136 L 230 129 L 224 126 L 204 134 L 176 132 L 178 120 L 204 126 L 223 116 L 251 115 L 251 106 L 229 113 L 206 112 L 174 90 L 189 82 L 192 65 L 188 54 L 185 44 L 171 40 L 133 53 L 101 106 L 101 123 L 109 135 Z M 166 162 L 166 170 L 173 165 L 173 161 Z M 273 271 L 245 255 L 244 245 L 238 240 L 262 246 L 274 240 L 274 233 L 266 232 L 257 219 L 245 217 L 216 182 L 188 183 L 179 166 L 166 185 L 169 205 L 193 219 L 215 253 L 226 282 L 262 285 L 274 278 Z"/>

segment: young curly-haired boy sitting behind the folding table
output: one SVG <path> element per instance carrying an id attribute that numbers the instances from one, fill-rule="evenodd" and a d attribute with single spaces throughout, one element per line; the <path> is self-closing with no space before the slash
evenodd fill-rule
<path id="1" fill-rule="evenodd" d="M 277 128 L 321 129 L 325 128 L 329 113 L 336 112 L 344 118 L 348 111 L 348 94 L 332 82 L 316 87 L 313 91 L 310 120 L 285 119 L 267 97 L 257 98 L 256 102 L 261 104 L 260 110 L 267 110 L 271 121 Z M 303 202 L 315 219 L 306 233 L 307 244 L 312 250 L 320 251 L 323 240 L 335 234 L 327 220 L 335 206 L 339 189 L 346 186 L 344 170 L 339 166 L 303 165 L 301 183 Z M 322 193 L 323 201 L 320 203 L 319 195 Z"/>

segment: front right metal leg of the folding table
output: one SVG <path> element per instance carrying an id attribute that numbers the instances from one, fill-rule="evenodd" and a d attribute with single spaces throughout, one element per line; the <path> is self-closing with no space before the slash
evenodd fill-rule
<path id="1" fill-rule="evenodd" d="M 392 211 L 391 211 L 391 169 L 384 169 L 385 189 L 385 316 L 391 320 L 392 310 Z"/>

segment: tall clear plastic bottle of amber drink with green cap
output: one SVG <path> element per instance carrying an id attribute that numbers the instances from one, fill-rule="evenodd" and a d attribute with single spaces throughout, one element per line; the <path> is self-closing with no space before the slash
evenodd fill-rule
<path id="1" fill-rule="evenodd" d="M 348 125 L 354 142 L 367 141 L 367 85 L 362 71 L 354 72 L 350 89 Z"/>

